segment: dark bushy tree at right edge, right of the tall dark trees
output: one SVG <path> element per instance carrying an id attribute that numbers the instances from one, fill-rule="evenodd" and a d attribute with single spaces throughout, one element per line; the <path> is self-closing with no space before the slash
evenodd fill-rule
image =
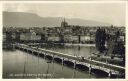
<path id="1" fill-rule="evenodd" d="M 114 58 L 115 54 L 121 56 L 123 61 L 125 61 L 125 46 L 124 41 L 119 40 L 120 32 L 115 32 L 114 35 L 109 35 L 107 40 L 107 49 L 108 54 L 110 54 L 111 58 Z"/>

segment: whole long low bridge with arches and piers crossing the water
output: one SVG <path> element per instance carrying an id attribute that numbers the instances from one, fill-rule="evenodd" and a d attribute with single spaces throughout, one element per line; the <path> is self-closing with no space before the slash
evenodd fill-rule
<path id="1" fill-rule="evenodd" d="M 16 49 L 43 57 L 44 59 L 51 60 L 52 62 L 56 61 L 58 63 L 61 63 L 62 65 L 67 65 L 74 69 L 80 69 L 84 71 L 86 70 L 89 73 L 94 74 L 104 74 L 105 76 L 109 77 L 125 77 L 125 67 L 91 60 L 80 56 L 73 56 L 70 54 L 32 47 L 25 44 L 16 43 L 14 44 L 14 46 Z"/>

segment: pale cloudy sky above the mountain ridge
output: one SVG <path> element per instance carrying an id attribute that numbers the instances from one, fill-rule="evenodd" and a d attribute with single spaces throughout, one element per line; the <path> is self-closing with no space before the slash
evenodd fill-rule
<path id="1" fill-rule="evenodd" d="M 41 17 L 81 18 L 125 26 L 125 3 L 4 3 L 3 11 L 29 12 Z"/>

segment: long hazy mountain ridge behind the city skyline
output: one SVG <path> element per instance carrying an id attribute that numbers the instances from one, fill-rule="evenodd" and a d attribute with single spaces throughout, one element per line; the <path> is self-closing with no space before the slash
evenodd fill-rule
<path id="1" fill-rule="evenodd" d="M 41 17 L 34 13 L 27 12 L 3 12 L 3 25 L 15 27 L 60 27 L 61 17 Z M 69 25 L 80 26 L 106 26 L 110 25 L 103 22 L 83 20 L 79 18 L 66 18 Z"/>

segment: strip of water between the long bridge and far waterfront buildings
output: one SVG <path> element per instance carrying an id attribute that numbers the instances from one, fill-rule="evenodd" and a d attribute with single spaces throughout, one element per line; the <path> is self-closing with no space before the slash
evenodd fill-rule
<path id="1" fill-rule="evenodd" d="M 56 52 L 61 52 L 65 54 L 71 54 L 76 56 L 84 56 L 89 57 L 91 53 L 96 52 L 96 48 L 93 46 L 73 46 L 73 45 L 67 45 L 67 46 L 42 46 L 42 48 L 53 50 Z"/>

